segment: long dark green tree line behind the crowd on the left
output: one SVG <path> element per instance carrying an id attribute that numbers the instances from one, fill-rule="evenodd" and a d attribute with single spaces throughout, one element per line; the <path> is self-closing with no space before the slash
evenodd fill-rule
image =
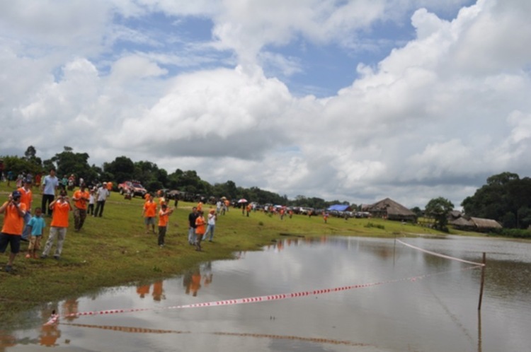
<path id="1" fill-rule="evenodd" d="M 24 156 L 2 156 L 4 173 L 11 170 L 14 175 L 30 172 L 33 175 L 47 174 L 48 170 L 55 168 L 57 176 L 74 174 L 83 177 L 87 184 L 111 181 L 116 186 L 119 183 L 136 180 L 148 190 L 156 192 L 158 189 L 177 189 L 180 192 L 200 194 L 202 196 L 222 197 L 228 199 L 249 199 L 259 204 L 282 204 L 287 206 L 307 206 L 314 209 L 326 209 L 332 204 L 349 204 L 348 201 L 326 201 L 318 197 L 296 196 L 295 199 L 287 199 L 286 195 L 269 192 L 258 187 L 239 187 L 232 180 L 224 183 L 210 184 L 195 172 L 195 170 L 176 169 L 169 173 L 159 168 L 156 163 L 150 161 L 133 162 L 127 156 L 119 156 L 115 160 L 105 162 L 103 165 L 89 165 L 88 153 L 76 153 L 69 146 L 55 154 L 50 159 L 42 160 L 37 156 L 34 146 L 28 146 Z"/>

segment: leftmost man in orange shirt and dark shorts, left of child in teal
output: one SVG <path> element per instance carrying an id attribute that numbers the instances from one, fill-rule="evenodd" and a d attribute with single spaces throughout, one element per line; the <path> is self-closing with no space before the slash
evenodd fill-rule
<path id="1" fill-rule="evenodd" d="M 6 265 L 6 271 L 13 270 L 13 261 L 21 250 L 21 237 L 24 228 L 25 204 L 21 202 L 21 192 L 13 191 L 9 199 L 0 206 L 0 213 L 4 214 L 4 226 L 0 233 L 0 253 L 6 252 L 7 245 L 11 247 L 11 254 Z"/>

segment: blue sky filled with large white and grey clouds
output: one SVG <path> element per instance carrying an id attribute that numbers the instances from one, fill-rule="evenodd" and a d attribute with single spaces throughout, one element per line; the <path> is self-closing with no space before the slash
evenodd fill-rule
<path id="1" fill-rule="evenodd" d="M 0 0 L 0 155 L 456 209 L 531 173 L 529 0 Z"/>

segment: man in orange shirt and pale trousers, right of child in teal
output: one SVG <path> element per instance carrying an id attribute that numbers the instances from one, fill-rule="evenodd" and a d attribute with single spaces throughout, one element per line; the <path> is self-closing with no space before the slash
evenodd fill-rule
<path id="1" fill-rule="evenodd" d="M 50 224 L 50 235 L 46 241 L 45 249 L 42 251 L 40 257 L 45 259 L 52 248 L 55 237 L 57 237 L 57 247 L 55 247 L 54 258 L 59 260 L 63 250 L 64 237 L 67 236 L 68 228 L 68 214 L 72 211 L 70 199 L 67 196 L 67 191 L 62 189 L 59 193 L 59 198 L 52 201 L 50 204 L 52 209 L 52 223 Z"/>

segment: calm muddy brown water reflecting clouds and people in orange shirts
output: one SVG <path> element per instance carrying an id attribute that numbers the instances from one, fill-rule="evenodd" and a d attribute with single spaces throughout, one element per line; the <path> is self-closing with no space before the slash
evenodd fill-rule
<path id="1" fill-rule="evenodd" d="M 19 327 L 2 327 L 0 346 L 4 351 L 529 350 L 530 242 L 402 240 L 469 262 L 481 262 L 486 252 L 481 312 L 481 269 L 472 264 L 392 239 L 292 239 L 263 252 L 239 253 L 236 260 L 203 263 L 166 281 L 24 312 Z M 215 250 L 215 244 L 205 250 Z M 304 295 L 281 296 L 292 293 Z M 241 298 L 262 301 L 241 303 Z M 190 306 L 199 303 L 212 304 Z M 42 327 L 52 310 L 62 318 Z M 105 310 L 108 314 L 64 318 Z"/>

